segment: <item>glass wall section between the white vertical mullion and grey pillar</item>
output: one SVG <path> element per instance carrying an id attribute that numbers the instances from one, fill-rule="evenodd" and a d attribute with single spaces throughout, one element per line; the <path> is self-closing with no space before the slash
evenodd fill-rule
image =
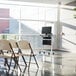
<path id="1" fill-rule="evenodd" d="M 25 10 L 24 10 L 25 9 Z M 52 11 L 53 10 L 53 11 Z M 51 14 L 50 14 L 51 13 Z M 55 7 L 40 7 L 40 6 L 21 6 L 21 34 L 29 35 L 29 41 L 35 47 L 42 46 L 42 27 L 52 26 L 56 21 L 57 8 Z M 30 35 L 31 34 L 31 35 Z M 28 36 L 27 35 L 27 36 Z M 21 39 L 27 39 L 27 36 L 22 36 Z"/>

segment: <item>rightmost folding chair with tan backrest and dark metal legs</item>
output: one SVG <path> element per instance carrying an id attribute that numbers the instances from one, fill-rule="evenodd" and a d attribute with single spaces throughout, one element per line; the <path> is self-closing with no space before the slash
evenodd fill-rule
<path id="1" fill-rule="evenodd" d="M 30 68 L 31 57 L 34 58 L 35 63 L 37 65 L 37 68 L 39 68 L 39 65 L 37 63 L 37 60 L 36 60 L 35 54 L 33 52 L 33 49 L 31 47 L 31 44 L 28 41 L 26 41 L 26 40 L 20 40 L 20 41 L 17 42 L 17 46 L 18 46 L 19 51 L 22 54 L 22 56 L 30 56 L 30 58 L 29 58 L 29 64 L 28 64 L 28 70 Z M 23 54 L 22 53 L 22 49 L 24 49 L 25 52 L 26 52 L 26 50 L 30 49 L 31 52 L 30 52 L 30 54 Z"/>

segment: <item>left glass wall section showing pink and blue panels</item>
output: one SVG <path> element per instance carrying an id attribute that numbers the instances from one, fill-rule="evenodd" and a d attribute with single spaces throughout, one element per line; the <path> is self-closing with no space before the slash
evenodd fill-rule
<path id="1" fill-rule="evenodd" d="M 0 38 L 18 39 L 20 8 L 9 4 L 0 4 Z M 12 34 L 12 35 L 11 35 Z"/>

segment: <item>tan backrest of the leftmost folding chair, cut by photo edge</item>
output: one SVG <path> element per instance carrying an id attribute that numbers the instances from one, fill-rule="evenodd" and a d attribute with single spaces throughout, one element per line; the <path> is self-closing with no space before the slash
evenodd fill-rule
<path id="1" fill-rule="evenodd" d="M 8 50 L 11 51 L 11 45 L 8 40 L 0 40 L 0 50 Z"/>

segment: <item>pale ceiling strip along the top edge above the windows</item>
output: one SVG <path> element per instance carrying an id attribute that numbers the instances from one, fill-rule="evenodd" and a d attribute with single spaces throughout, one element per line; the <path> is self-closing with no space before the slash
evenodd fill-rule
<path id="1" fill-rule="evenodd" d="M 45 3 L 45 4 L 57 4 L 58 2 L 61 2 L 62 4 L 69 4 L 76 0 L 8 0 L 8 1 L 35 2 L 35 3 Z"/>

